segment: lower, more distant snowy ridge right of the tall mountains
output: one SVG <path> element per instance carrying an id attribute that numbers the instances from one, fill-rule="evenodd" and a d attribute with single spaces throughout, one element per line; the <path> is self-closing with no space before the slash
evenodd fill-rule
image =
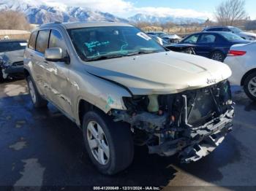
<path id="1" fill-rule="evenodd" d="M 165 16 L 165 17 L 158 17 L 154 15 L 146 15 L 146 14 L 136 14 L 132 17 L 128 18 L 129 21 L 138 23 L 138 22 L 147 22 L 147 23 L 167 23 L 172 22 L 176 24 L 183 24 L 183 23 L 203 23 L 206 21 L 203 18 L 193 18 L 193 17 L 175 17 L 175 16 Z"/>

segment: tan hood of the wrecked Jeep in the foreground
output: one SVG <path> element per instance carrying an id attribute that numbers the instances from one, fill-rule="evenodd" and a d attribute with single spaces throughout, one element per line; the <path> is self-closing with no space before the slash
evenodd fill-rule
<path id="1" fill-rule="evenodd" d="M 231 75 L 225 63 L 172 51 L 91 61 L 86 71 L 129 88 L 134 95 L 179 93 Z"/>

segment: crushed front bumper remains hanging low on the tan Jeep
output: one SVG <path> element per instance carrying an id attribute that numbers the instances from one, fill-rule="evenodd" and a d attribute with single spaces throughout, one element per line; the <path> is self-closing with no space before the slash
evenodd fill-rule
<path id="1" fill-rule="evenodd" d="M 208 155 L 232 130 L 234 110 L 230 109 L 217 119 L 198 128 L 188 128 L 181 139 L 167 141 L 157 146 L 148 146 L 149 153 L 170 156 L 178 153 L 181 162 L 189 163 Z"/>

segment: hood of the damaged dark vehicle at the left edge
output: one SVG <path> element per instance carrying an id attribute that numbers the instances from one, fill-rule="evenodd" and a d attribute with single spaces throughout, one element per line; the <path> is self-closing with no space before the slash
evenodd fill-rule
<path id="1" fill-rule="evenodd" d="M 11 52 L 1 52 L 0 59 L 6 61 L 9 64 L 23 61 L 24 50 L 15 50 Z"/>

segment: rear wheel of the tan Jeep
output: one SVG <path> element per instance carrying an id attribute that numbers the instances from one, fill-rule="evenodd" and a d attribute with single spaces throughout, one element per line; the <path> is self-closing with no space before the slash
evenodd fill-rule
<path id="1" fill-rule="evenodd" d="M 42 96 L 39 94 L 37 86 L 34 84 L 33 79 L 29 76 L 26 78 L 26 81 L 28 83 L 29 94 L 31 96 L 31 101 L 34 104 L 34 107 L 41 108 L 47 106 L 48 101 L 42 98 Z"/>

